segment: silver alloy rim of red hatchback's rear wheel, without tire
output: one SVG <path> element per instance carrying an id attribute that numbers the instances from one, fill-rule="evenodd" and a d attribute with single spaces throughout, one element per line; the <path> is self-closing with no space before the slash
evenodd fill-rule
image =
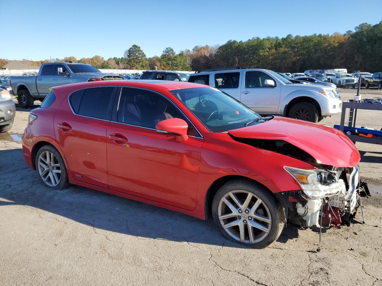
<path id="1" fill-rule="evenodd" d="M 38 170 L 42 181 L 55 187 L 61 180 L 61 165 L 57 157 L 50 151 L 43 151 L 37 160 Z"/>

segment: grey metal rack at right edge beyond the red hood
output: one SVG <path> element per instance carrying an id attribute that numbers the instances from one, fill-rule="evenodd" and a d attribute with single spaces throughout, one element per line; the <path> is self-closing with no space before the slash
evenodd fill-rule
<path id="1" fill-rule="evenodd" d="M 341 113 L 341 123 L 340 130 L 343 132 L 343 127 L 345 124 L 345 112 L 346 108 L 349 108 L 349 127 L 356 127 L 356 119 L 357 119 L 357 110 L 358 109 L 367 109 L 367 110 L 379 110 L 382 111 L 382 104 L 374 104 L 374 103 L 356 103 L 356 102 L 343 102 L 342 103 L 342 113 Z M 380 144 L 382 145 L 382 138 L 369 138 L 357 135 L 347 135 L 353 142 L 364 142 L 371 144 Z"/>

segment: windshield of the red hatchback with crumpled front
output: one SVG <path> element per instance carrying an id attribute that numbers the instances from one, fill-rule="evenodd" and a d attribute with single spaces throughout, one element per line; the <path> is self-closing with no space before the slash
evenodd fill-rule
<path id="1" fill-rule="evenodd" d="M 246 126 L 259 114 L 213 87 L 184 88 L 170 91 L 210 132 L 226 132 Z M 259 124 L 264 120 L 247 125 Z"/>

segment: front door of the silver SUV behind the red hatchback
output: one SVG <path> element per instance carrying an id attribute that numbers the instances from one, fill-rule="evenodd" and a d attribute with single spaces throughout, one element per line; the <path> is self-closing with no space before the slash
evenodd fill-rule
<path id="1" fill-rule="evenodd" d="M 276 114 L 280 104 L 280 85 L 262 71 L 247 71 L 241 81 L 241 102 L 259 114 Z M 265 85 L 273 80 L 274 87 Z"/>

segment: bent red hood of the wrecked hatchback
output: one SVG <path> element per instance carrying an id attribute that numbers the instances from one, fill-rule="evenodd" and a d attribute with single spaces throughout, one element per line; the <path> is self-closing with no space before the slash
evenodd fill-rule
<path id="1" fill-rule="evenodd" d="M 239 138 L 284 140 L 324 165 L 353 167 L 361 159 L 356 146 L 341 131 L 297 119 L 275 116 L 264 123 L 228 132 Z"/>

